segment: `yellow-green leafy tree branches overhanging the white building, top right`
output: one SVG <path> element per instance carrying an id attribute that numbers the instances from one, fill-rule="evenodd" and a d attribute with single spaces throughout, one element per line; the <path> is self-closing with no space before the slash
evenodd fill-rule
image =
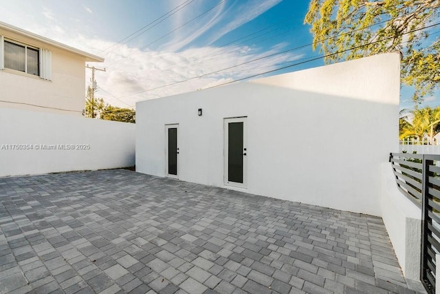
<path id="1" fill-rule="evenodd" d="M 439 6 L 438 0 L 311 0 L 305 23 L 314 50 L 332 54 L 326 63 L 401 51 L 402 81 L 415 86 L 413 99 L 420 103 L 439 87 L 440 42 L 426 30 L 414 31 L 438 21 Z"/>

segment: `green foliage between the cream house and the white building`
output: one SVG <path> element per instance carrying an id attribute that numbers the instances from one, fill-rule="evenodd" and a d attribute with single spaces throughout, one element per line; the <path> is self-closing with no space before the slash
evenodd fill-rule
<path id="1" fill-rule="evenodd" d="M 92 98 L 91 91 L 91 87 L 88 87 L 85 98 L 86 117 L 136 123 L 136 111 L 134 109 L 115 107 L 104 103 L 102 98 Z"/>

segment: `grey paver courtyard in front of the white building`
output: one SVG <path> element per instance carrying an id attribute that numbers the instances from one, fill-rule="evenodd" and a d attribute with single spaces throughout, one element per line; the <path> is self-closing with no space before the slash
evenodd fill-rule
<path id="1" fill-rule="evenodd" d="M 1 293 L 414 293 L 380 218 L 123 169 L 0 201 Z"/>

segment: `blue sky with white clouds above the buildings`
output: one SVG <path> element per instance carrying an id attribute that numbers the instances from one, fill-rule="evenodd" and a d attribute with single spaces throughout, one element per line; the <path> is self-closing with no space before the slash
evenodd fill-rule
<path id="1" fill-rule="evenodd" d="M 129 107 L 318 56 L 311 46 L 278 54 L 311 43 L 303 25 L 308 6 L 307 0 L 1 0 L 0 20 L 104 57 L 94 64 L 107 69 L 96 73 L 97 96 Z M 89 76 L 87 70 L 87 83 Z M 411 94 L 402 91 L 401 107 L 412 107 Z M 437 103 L 429 97 L 424 104 Z"/>

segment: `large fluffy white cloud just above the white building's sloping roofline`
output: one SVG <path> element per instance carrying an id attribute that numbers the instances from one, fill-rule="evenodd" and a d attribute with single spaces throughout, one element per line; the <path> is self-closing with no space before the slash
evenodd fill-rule
<path id="1" fill-rule="evenodd" d="M 111 45 L 99 39 L 89 39 L 85 42 L 85 37 L 77 39 L 75 43 L 87 44 L 89 47 L 83 50 L 91 52 Z M 108 103 L 126 107 L 126 104 L 135 105 L 137 101 L 192 92 L 236 78 L 245 78 L 273 70 L 279 63 L 301 57 L 298 54 L 276 54 L 264 58 L 278 52 L 277 46 L 264 53 L 250 50 L 248 54 L 243 55 L 241 50 L 248 51 L 249 48 L 230 46 L 219 50 L 203 47 L 182 52 L 164 52 L 142 51 L 123 45 L 105 56 L 104 63 L 97 65 L 107 67 L 107 72 L 96 72 L 98 89 L 102 89 L 98 90 L 97 95 Z M 260 60 L 253 61 L 255 59 Z M 241 63 L 245 64 L 235 67 Z M 232 68 L 223 70 L 228 67 Z M 219 70 L 223 71 L 217 72 Z M 215 73 L 210 74 L 211 72 Z M 89 81 L 89 76 L 90 73 L 87 72 L 86 81 Z M 185 82 L 180 83 L 181 81 Z M 170 85 L 173 83 L 175 85 Z"/>

